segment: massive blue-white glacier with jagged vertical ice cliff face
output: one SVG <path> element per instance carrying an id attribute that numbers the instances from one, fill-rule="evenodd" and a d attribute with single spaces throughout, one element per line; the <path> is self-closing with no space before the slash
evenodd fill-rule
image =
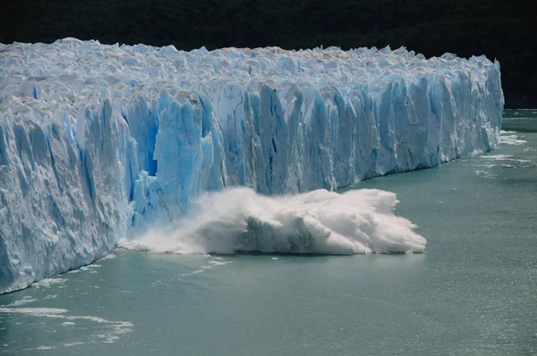
<path id="1" fill-rule="evenodd" d="M 363 179 L 488 151 L 503 106 L 499 63 L 484 56 L 0 44 L 0 292 L 155 226 L 180 230 L 206 192 L 326 190 L 332 201 L 328 191 Z M 389 216 L 395 197 L 379 199 L 371 207 Z M 281 218 L 269 216 L 271 233 Z M 330 251 L 424 247 L 402 243 Z"/>

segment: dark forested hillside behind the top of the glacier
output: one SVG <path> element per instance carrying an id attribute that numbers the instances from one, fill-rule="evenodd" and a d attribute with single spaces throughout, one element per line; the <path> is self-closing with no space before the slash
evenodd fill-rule
<path id="1" fill-rule="evenodd" d="M 497 58 L 507 107 L 537 107 L 534 0 L 20 0 L 0 8 L 0 42 L 284 48 L 405 46 Z"/>

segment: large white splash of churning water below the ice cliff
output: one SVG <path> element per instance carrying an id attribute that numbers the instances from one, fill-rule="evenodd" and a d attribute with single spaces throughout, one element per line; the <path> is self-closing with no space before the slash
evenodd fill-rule
<path id="1" fill-rule="evenodd" d="M 175 231 L 152 229 L 120 246 L 181 254 L 423 252 L 426 240 L 394 215 L 397 203 L 396 194 L 379 190 L 267 197 L 233 188 L 200 196 Z"/>

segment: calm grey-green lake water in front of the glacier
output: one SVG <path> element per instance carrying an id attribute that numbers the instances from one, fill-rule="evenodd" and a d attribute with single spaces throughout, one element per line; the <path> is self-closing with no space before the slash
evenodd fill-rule
<path id="1" fill-rule="evenodd" d="M 536 354 L 537 118 L 516 113 L 489 154 L 354 187 L 396 192 L 425 254 L 116 250 L 1 295 L 0 354 Z"/>

